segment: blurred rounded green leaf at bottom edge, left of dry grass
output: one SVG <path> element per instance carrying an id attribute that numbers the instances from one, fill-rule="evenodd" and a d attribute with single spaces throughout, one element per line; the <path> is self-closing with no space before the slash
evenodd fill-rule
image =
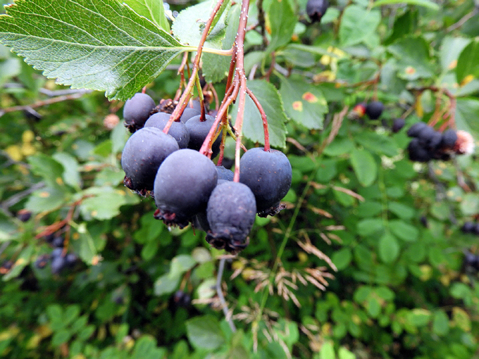
<path id="1" fill-rule="evenodd" d="M 189 343 L 197 349 L 214 351 L 223 344 L 225 338 L 215 317 L 203 315 L 186 322 L 186 333 Z"/>

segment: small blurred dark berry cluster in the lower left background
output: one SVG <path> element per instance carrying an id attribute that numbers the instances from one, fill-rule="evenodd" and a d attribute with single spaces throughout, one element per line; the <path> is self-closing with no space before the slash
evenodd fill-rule
<path id="1" fill-rule="evenodd" d="M 42 254 L 37 260 L 35 260 L 35 266 L 37 268 L 43 269 L 50 262 L 51 272 L 54 275 L 58 275 L 67 267 L 75 266 L 78 257 L 75 253 L 63 253 L 65 242 L 63 237 L 49 234 L 45 236 L 45 240 L 48 244 L 54 247 L 54 250 L 51 251 L 51 254 Z"/>

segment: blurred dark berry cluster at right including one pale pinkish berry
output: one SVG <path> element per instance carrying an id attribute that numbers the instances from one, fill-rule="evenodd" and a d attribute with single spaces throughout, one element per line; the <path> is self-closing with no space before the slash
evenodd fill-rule
<path id="1" fill-rule="evenodd" d="M 409 158 L 416 162 L 449 160 L 453 153 L 472 153 L 474 149 L 473 138 L 468 132 L 452 129 L 439 132 L 424 122 L 409 127 L 407 135 L 412 137 L 408 145 Z"/>

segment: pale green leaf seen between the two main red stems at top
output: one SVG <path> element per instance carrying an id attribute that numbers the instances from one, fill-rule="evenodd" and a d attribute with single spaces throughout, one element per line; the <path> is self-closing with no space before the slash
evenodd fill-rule
<path id="1" fill-rule="evenodd" d="M 223 40 L 221 48 L 223 50 L 231 49 L 233 42 L 235 42 L 236 32 L 239 25 L 239 13 L 241 6 L 232 6 L 228 12 L 228 26 L 226 27 L 226 35 Z M 230 56 L 220 56 L 215 53 L 203 53 L 201 56 L 203 66 L 204 78 L 206 82 L 220 82 L 228 75 L 230 69 Z"/>

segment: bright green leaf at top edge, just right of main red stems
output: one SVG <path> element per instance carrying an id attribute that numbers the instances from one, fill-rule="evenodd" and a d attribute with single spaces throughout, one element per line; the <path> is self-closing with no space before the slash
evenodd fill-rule
<path id="1" fill-rule="evenodd" d="M 297 18 L 290 1 L 286 0 L 271 0 L 266 15 L 271 29 L 270 44 L 266 49 L 269 53 L 290 42 Z"/>

